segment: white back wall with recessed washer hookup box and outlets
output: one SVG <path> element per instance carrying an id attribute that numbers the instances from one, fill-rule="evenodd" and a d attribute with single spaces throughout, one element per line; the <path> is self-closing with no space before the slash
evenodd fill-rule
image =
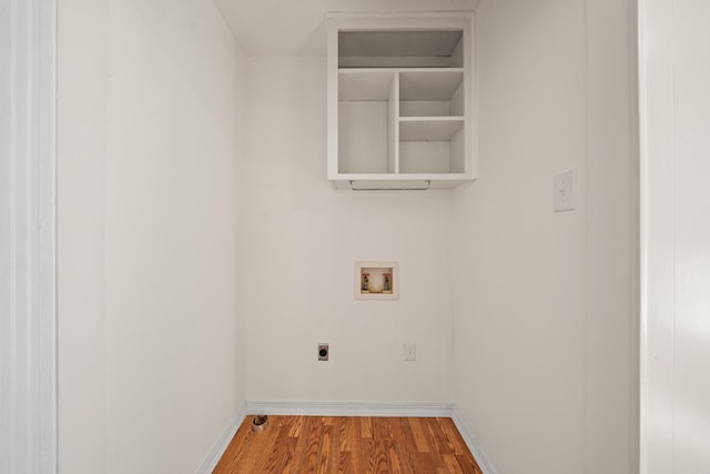
<path id="1" fill-rule="evenodd" d="M 325 56 L 247 69 L 246 397 L 450 402 L 450 192 L 333 190 Z M 399 300 L 356 301 L 358 260 L 398 261 Z"/>

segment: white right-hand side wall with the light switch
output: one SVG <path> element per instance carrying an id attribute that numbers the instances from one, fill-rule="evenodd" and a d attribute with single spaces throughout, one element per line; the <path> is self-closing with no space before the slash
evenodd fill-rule
<path id="1" fill-rule="evenodd" d="M 454 403 L 500 473 L 636 470 L 630 2 L 477 10 L 479 177 L 454 194 Z M 577 171 L 577 210 L 552 177 Z"/>

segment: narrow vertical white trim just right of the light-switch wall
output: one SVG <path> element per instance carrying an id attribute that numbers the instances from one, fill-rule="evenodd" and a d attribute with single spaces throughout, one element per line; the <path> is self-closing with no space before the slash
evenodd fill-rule
<path id="1" fill-rule="evenodd" d="M 673 471 L 676 103 L 673 1 L 639 1 L 640 421 L 643 474 Z"/>

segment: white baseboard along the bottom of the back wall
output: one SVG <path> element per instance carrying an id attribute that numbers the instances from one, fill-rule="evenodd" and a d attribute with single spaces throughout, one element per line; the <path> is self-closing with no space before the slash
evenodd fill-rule
<path id="1" fill-rule="evenodd" d="M 313 415 L 313 416 L 450 416 L 450 403 L 422 402 L 246 402 L 250 415 Z"/>

